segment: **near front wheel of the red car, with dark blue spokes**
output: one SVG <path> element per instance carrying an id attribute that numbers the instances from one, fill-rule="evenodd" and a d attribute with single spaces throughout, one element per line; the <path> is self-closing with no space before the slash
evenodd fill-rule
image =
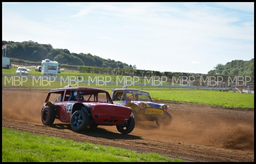
<path id="1" fill-rule="evenodd" d="M 74 131 L 82 131 L 89 124 L 87 113 L 82 110 L 75 111 L 70 118 L 70 125 Z"/>

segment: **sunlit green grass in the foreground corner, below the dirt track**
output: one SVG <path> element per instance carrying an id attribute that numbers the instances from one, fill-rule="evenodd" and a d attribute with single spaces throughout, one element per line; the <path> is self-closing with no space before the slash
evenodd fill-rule
<path id="1" fill-rule="evenodd" d="M 2 127 L 2 162 L 180 162 L 157 153 L 35 135 Z"/>

